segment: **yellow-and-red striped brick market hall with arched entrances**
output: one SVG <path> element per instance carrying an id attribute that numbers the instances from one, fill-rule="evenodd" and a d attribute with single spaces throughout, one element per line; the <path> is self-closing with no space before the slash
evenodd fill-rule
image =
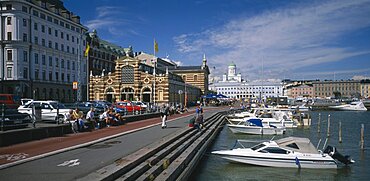
<path id="1" fill-rule="evenodd" d="M 171 62 L 153 57 L 145 53 L 125 56 L 115 61 L 113 72 L 91 76 L 90 100 L 139 100 L 154 104 L 190 104 L 199 100 L 201 88 L 170 71 L 174 69 L 169 67 Z"/>

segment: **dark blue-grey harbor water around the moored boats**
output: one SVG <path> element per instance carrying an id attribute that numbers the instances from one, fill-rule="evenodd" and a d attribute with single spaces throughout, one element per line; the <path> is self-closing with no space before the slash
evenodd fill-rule
<path id="1" fill-rule="evenodd" d="M 318 132 L 319 113 L 320 132 Z M 368 180 L 370 178 L 370 111 L 313 111 L 310 115 L 312 125 L 309 128 L 287 129 L 284 135 L 275 137 L 233 134 L 225 125 L 195 168 L 190 180 Z M 328 115 L 330 115 L 329 137 L 327 136 Z M 339 122 L 342 126 L 342 143 L 339 143 Z M 360 149 L 361 124 L 365 127 L 364 150 Z M 355 163 L 345 166 L 338 162 L 338 169 L 272 168 L 232 163 L 211 154 L 214 150 L 233 148 L 237 139 L 255 141 L 245 144 L 249 147 L 273 137 L 273 139 L 279 139 L 287 136 L 307 137 L 315 146 L 321 139 L 319 146 L 321 150 L 324 150 L 322 147 L 327 139 L 327 145 L 336 147 L 342 155 L 350 155 Z"/>

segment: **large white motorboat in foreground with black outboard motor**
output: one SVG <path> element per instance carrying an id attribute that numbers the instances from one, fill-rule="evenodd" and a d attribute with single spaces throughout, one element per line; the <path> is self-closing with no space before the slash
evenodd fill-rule
<path id="1" fill-rule="evenodd" d="M 287 168 L 337 168 L 337 162 L 354 163 L 349 156 L 342 156 L 335 147 L 328 146 L 324 152 L 317 150 L 307 138 L 287 137 L 266 141 L 251 148 L 213 151 L 212 154 L 232 162 L 267 167 Z"/>

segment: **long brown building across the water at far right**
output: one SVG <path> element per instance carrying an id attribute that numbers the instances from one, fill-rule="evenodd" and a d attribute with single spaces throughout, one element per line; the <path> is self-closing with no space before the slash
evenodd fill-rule
<path id="1" fill-rule="evenodd" d="M 360 80 L 325 80 L 312 83 L 315 97 L 361 97 Z"/>

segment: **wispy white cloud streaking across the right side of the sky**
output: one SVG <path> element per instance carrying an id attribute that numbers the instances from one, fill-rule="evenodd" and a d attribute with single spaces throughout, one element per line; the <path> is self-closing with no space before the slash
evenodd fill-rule
<path id="1" fill-rule="evenodd" d="M 220 28 L 174 37 L 178 51 L 208 55 L 209 63 L 227 67 L 234 61 L 243 76 L 282 78 L 290 71 L 336 62 L 370 50 L 339 42 L 370 26 L 370 1 L 318 1 L 231 20 Z M 220 68 L 221 69 L 221 68 Z M 217 71 L 219 74 L 223 71 Z"/>

